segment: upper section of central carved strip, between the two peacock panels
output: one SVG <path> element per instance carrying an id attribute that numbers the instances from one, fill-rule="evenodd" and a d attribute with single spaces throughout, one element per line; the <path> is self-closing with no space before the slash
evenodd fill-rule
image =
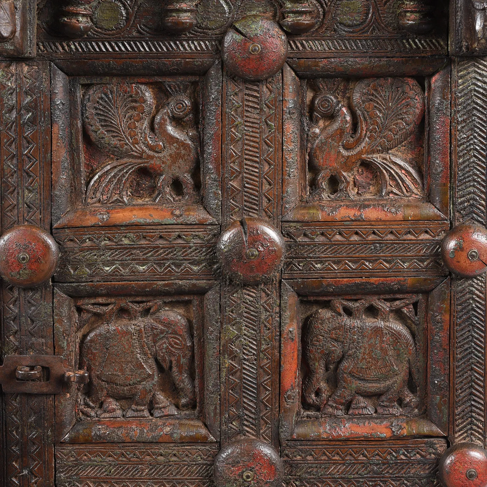
<path id="1" fill-rule="evenodd" d="M 279 222 L 281 176 L 281 74 L 260 83 L 227 76 L 224 90 L 227 226 L 243 216 Z"/>

